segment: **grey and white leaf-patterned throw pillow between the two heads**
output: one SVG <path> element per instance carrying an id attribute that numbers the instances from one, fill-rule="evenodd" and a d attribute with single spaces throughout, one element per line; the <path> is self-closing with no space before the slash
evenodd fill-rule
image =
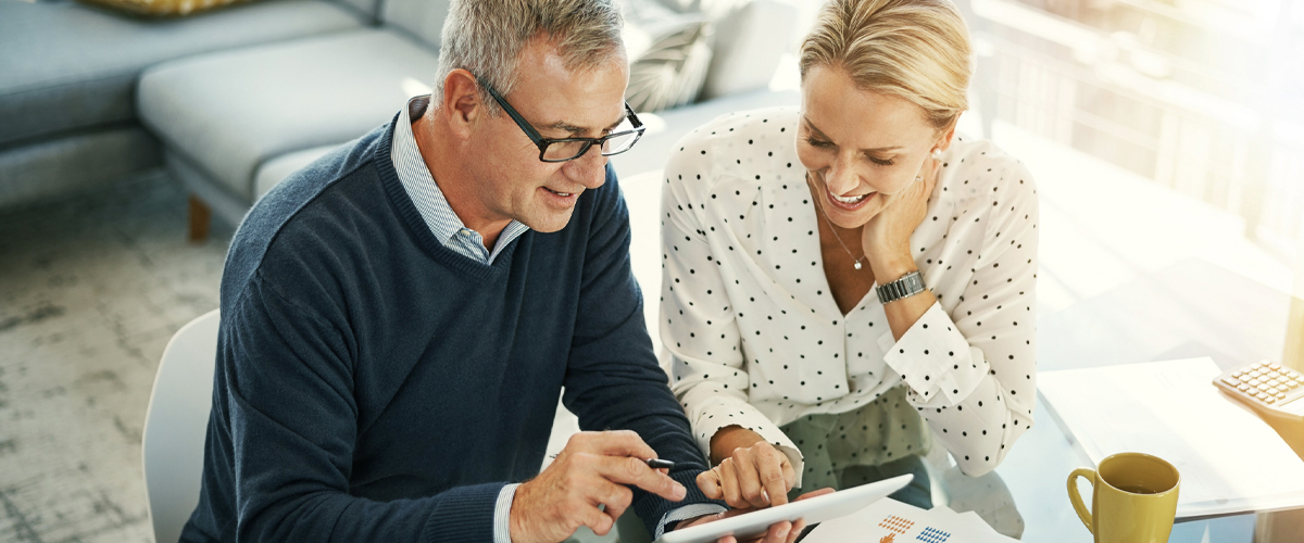
<path id="1" fill-rule="evenodd" d="M 630 86 L 625 99 L 639 112 L 692 102 L 711 66 L 711 21 L 674 13 L 651 0 L 626 0 L 625 47 Z"/>

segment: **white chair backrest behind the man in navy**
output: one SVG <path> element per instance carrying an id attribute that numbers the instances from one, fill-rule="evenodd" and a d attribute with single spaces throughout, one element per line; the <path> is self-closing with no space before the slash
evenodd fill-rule
<path id="1" fill-rule="evenodd" d="M 163 349 L 141 439 L 154 540 L 172 543 L 200 503 L 203 439 L 213 409 L 218 310 L 181 327 Z"/>

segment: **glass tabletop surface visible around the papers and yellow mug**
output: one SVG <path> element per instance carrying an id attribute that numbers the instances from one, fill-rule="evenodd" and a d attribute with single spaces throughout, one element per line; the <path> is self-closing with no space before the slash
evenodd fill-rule
<path id="1" fill-rule="evenodd" d="M 1290 296 L 1189 259 L 1042 319 L 1039 370 L 1198 357 L 1228 370 L 1275 361 L 1282 355 L 1288 311 Z M 1091 542 L 1069 504 L 1065 480 L 1073 469 L 1093 465 L 1074 451 L 1041 398 L 1034 417 L 1033 428 L 995 471 L 1022 517 L 1021 539 Z M 1084 491 L 1090 503 L 1090 487 L 1084 484 Z M 1254 525 L 1253 513 L 1179 522 L 1170 542 L 1249 543 Z"/>

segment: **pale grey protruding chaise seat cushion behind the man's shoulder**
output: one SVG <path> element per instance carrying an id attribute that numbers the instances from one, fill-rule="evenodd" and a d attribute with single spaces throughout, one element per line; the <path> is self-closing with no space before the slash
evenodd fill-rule
<path id="1" fill-rule="evenodd" d="M 429 92 L 438 56 L 389 30 L 226 51 L 141 77 L 141 120 L 216 184 L 253 202 L 269 159 L 363 135 Z"/>

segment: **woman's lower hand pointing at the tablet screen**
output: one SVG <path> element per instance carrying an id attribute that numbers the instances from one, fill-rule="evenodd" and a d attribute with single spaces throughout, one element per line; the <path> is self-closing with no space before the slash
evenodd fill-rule
<path id="1" fill-rule="evenodd" d="M 758 436 L 759 438 L 759 436 Z M 764 440 L 738 447 L 709 471 L 698 475 L 698 487 L 712 500 L 732 508 L 767 508 L 788 503 L 797 483 L 788 454 Z"/>

